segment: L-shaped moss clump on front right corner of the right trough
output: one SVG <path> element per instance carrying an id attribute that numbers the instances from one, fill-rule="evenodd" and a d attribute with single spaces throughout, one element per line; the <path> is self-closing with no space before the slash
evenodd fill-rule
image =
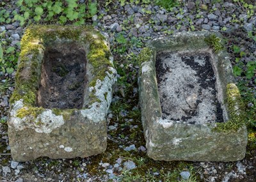
<path id="1" fill-rule="evenodd" d="M 244 107 L 241 99 L 239 89 L 235 84 L 228 84 L 226 88 L 226 104 L 228 109 L 228 121 L 225 123 L 217 123 L 217 132 L 230 132 L 230 130 L 237 131 L 241 126 L 244 126 Z"/>

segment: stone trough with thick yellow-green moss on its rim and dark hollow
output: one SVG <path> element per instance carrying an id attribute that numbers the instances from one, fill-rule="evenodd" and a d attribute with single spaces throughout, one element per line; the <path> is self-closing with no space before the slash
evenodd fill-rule
<path id="1" fill-rule="evenodd" d="M 28 27 L 21 41 L 8 121 L 13 160 L 104 152 L 115 81 L 113 57 L 98 31 Z"/>

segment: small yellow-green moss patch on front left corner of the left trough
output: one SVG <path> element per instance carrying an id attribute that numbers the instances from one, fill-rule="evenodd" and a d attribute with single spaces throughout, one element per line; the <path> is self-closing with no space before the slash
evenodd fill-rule
<path id="1" fill-rule="evenodd" d="M 17 110 L 16 116 L 18 118 L 24 118 L 25 116 L 33 116 L 33 118 L 36 118 L 39 114 L 42 114 L 44 110 L 45 109 L 42 107 L 22 107 Z"/>

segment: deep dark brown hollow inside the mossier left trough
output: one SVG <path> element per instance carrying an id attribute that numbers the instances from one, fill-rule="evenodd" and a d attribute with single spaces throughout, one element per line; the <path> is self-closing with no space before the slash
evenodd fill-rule
<path id="1" fill-rule="evenodd" d="M 76 42 L 52 43 L 45 48 L 38 107 L 81 109 L 86 80 L 86 54 Z"/>

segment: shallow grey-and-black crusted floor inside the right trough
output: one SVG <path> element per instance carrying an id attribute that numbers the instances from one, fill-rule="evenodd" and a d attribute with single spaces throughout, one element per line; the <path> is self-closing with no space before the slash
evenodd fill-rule
<path id="1" fill-rule="evenodd" d="M 160 52 L 156 75 L 163 119 L 189 124 L 223 122 L 208 53 Z"/>

